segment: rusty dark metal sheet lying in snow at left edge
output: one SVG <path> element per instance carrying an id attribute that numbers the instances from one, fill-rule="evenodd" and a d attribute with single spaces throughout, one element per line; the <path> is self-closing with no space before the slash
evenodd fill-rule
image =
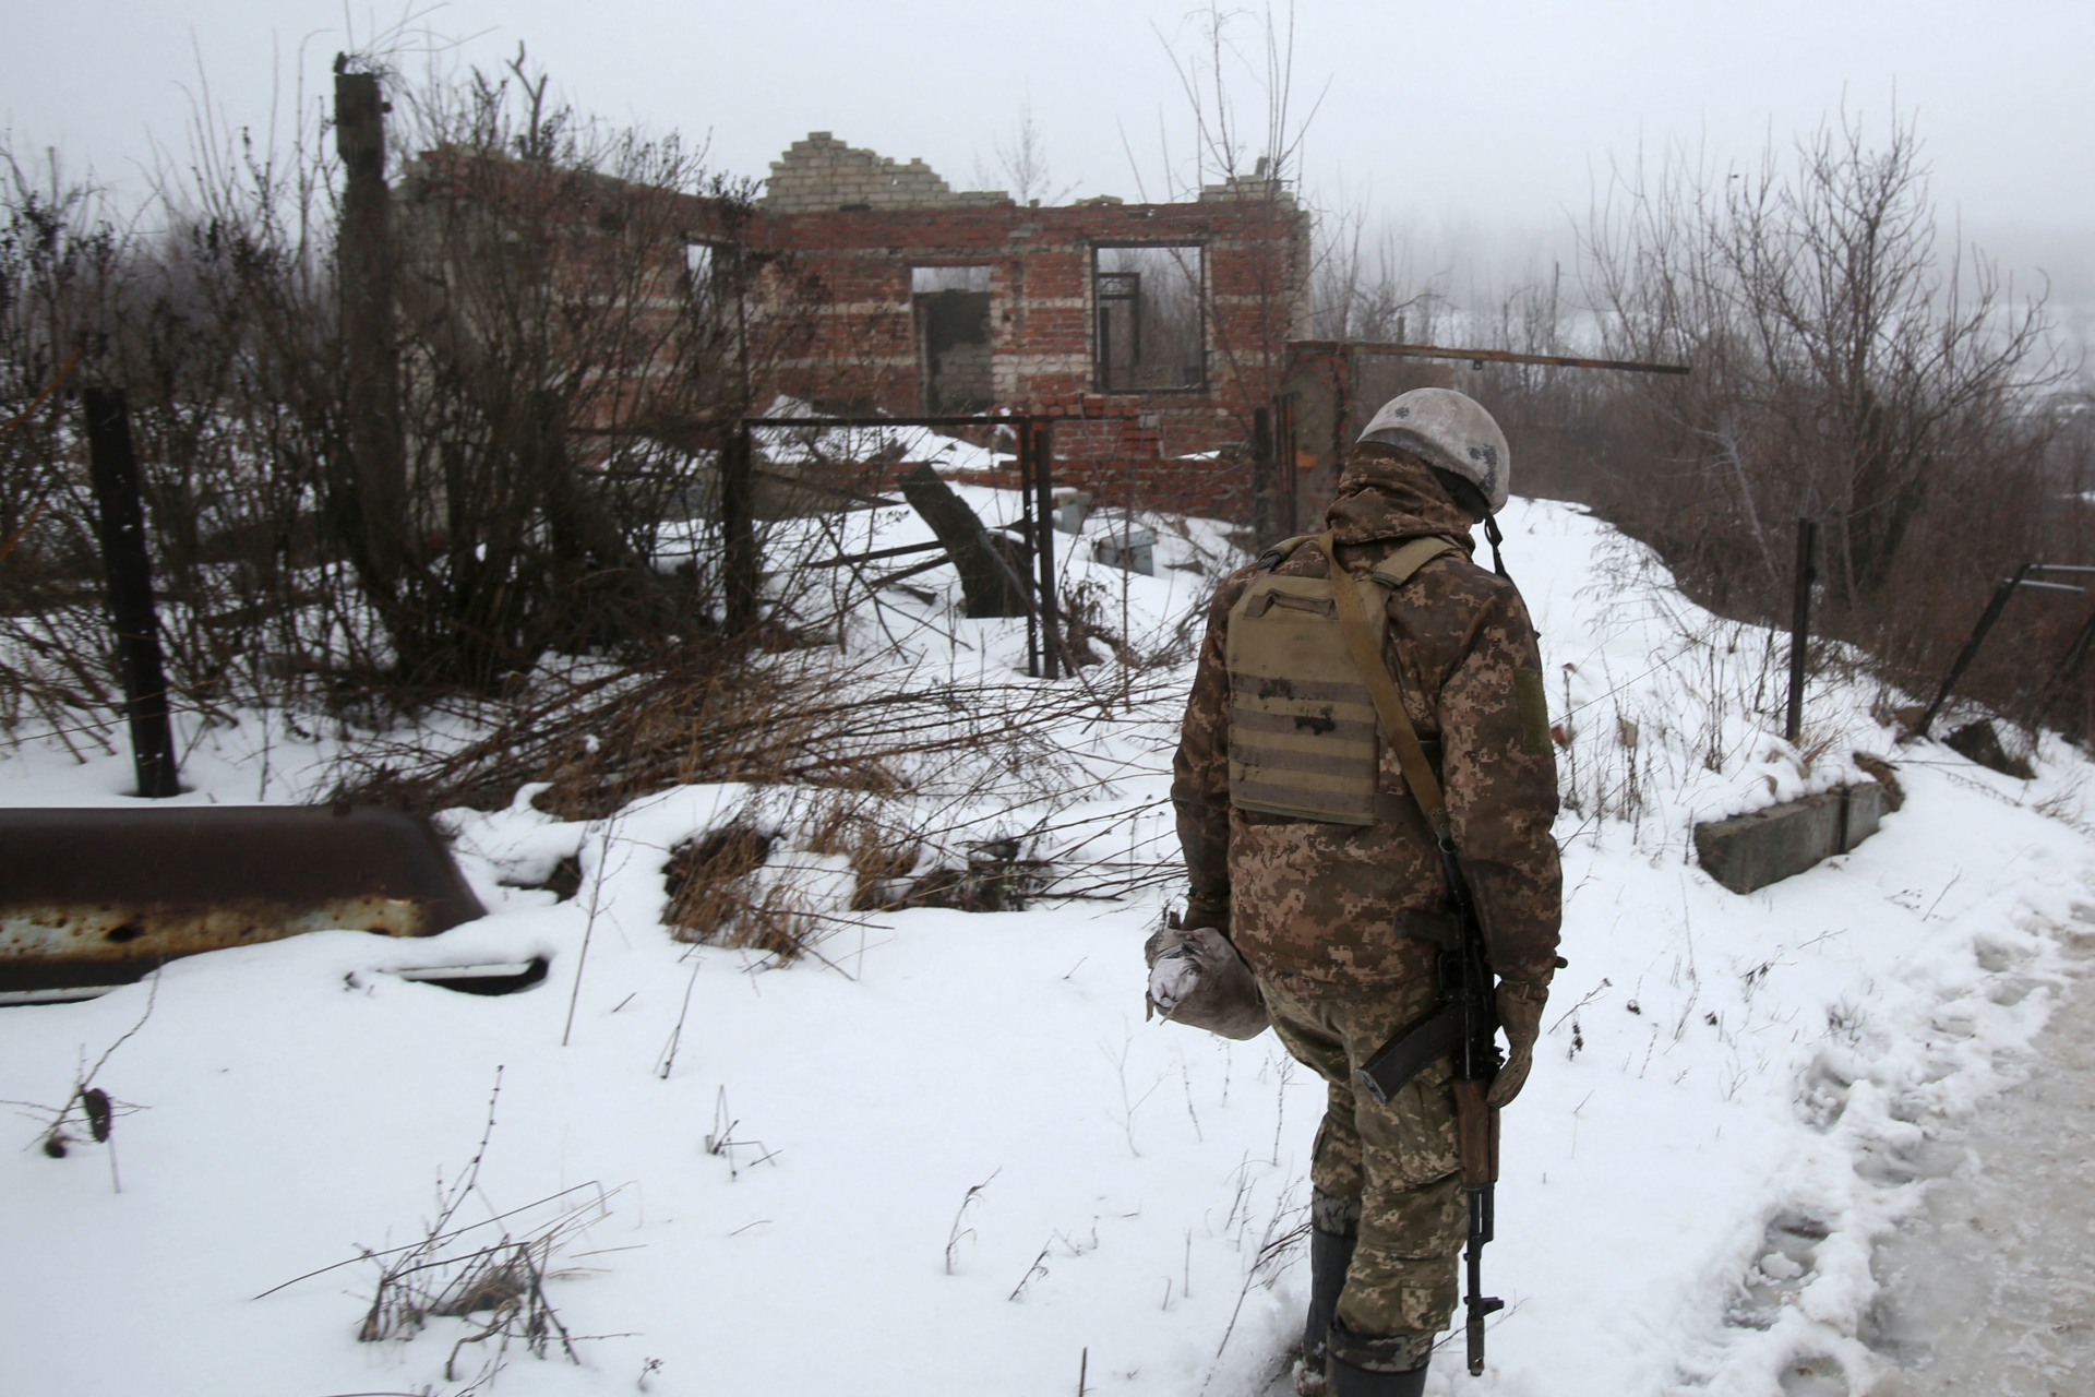
<path id="1" fill-rule="evenodd" d="M 427 821 L 335 806 L 0 808 L 0 991 L 124 984 L 300 932 L 486 915 Z"/>

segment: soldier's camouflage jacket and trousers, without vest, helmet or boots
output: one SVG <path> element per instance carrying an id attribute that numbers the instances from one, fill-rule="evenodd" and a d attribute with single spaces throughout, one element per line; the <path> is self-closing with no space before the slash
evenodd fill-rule
<path id="1" fill-rule="evenodd" d="M 1355 576 L 1406 538 L 1462 545 L 1389 593 L 1383 658 L 1427 752 L 1437 748 L 1492 963 L 1540 995 L 1557 959 L 1561 871 L 1557 764 L 1527 607 L 1508 580 L 1469 561 L 1471 517 L 1414 457 L 1355 446 L 1326 524 Z M 1351 1081 L 1395 1030 L 1437 1007 L 1448 884 L 1387 739 L 1372 825 L 1232 806 L 1228 624 L 1253 572 L 1232 574 L 1209 609 L 1173 762 L 1192 880 L 1186 922 L 1232 936 L 1280 1041 L 1330 1083 L 1311 1165 L 1318 1227 L 1339 1232 L 1358 1217 L 1339 1320 L 1366 1336 L 1437 1334 L 1454 1313 L 1464 1238 L 1450 1064 L 1427 1068 L 1387 1106 L 1355 1095 Z M 1311 540 L 1276 572 L 1326 576 L 1326 561 Z"/>

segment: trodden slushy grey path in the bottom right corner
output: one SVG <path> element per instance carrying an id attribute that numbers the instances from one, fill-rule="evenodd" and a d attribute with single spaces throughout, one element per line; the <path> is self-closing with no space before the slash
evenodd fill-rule
<path id="1" fill-rule="evenodd" d="M 2095 957 L 2095 930 L 2074 953 Z M 2095 1389 L 2095 980 L 2036 1041 L 2030 1081 L 1965 1129 L 1969 1162 L 1877 1252 L 1873 1397 L 2068 1397 Z"/>

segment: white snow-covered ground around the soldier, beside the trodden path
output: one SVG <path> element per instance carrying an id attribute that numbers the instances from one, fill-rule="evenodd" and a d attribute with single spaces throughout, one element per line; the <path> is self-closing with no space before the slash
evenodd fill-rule
<path id="1" fill-rule="evenodd" d="M 869 511 L 853 545 L 920 534 Z M 1856 1338 L 1871 1252 L 1921 1202 L 1932 1123 L 2011 1081 L 2066 980 L 2089 767 L 2047 746 L 2020 783 L 1894 750 L 1879 695 L 1833 679 L 1800 754 L 1770 737 L 1783 651 L 1766 633 L 1697 612 L 1578 509 L 1517 501 L 1506 534 L 1569 744 L 1569 970 L 1504 1125 L 1492 1368 L 1473 1380 L 1446 1353 L 1429 1393 L 1862 1391 L 1881 1370 Z M 1154 647 L 1223 545 L 1215 526 L 1161 528 L 1156 578 L 1064 553 L 1102 624 Z M 1022 666 L 1022 622 L 960 618 L 949 572 L 916 582 L 930 601 L 888 593 L 846 645 L 991 681 Z M 983 834 L 1027 836 L 1060 890 L 1161 857 L 1184 672 L 1165 679 L 1131 710 L 1115 695 L 1144 687 L 1112 660 L 1064 681 L 1098 712 L 1062 731 L 1054 792 L 1014 771 L 980 815 L 1006 823 Z M 333 756 L 262 718 L 193 737 L 193 802 L 297 798 Z M 1693 865 L 1695 819 L 1850 779 L 1854 750 L 1892 756 L 1906 794 L 1854 855 L 1751 896 Z M 29 741 L 0 760 L 0 800 L 117 802 L 128 777 L 124 754 L 80 764 Z M 748 817 L 750 792 L 685 788 L 591 823 L 528 794 L 444 817 L 482 922 L 312 934 L 0 1010 L 17 1102 L 0 1129 L 19 1144 L 0 1154 L 0 1391 L 459 1393 L 497 1357 L 469 1340 L 486 1311 L 358 1340 L 383 1252 L 446 1200 L 448 1227 L 478 1225 L 453 1255 L 557 1234 L 545 1299 L 580 1361 L 511 1345 L 501 1391 L 1274 1382 L 1305 1292 L 1322 1087 L 1272 1037 L 1144 1022 L 1163 890 L 851 913 L 842 859 L 771 817 L 767 878 L 834 917 L 819 957 L 775 968 L 662 926 L 670 848 Z M 582 867 L 570 901 L 511 886 L 561 857 Z M 551 974 L 509 997 L 390 974 L 526 955 Z M 38 1106 L 113 1043 L 94 1077 L 119 1104 L 109 1146 L 48 1158 Z"/>

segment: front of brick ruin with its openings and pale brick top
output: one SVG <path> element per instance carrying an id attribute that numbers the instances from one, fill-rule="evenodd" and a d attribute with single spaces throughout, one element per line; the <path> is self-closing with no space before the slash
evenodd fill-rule
<path id="1" fill-rule="evenodd" d="M 1253 415 L 1309 308 L 1309 216 L 1280 182 L 1018 205 L 813 132 L 773 161 L 742 237 L 767 266 L 758 306 L 788 276 L 813 287 L 813 331 L 767 360 L 779 392 L 1050 413 L 1058 482 L 1249 522 Z"/>

